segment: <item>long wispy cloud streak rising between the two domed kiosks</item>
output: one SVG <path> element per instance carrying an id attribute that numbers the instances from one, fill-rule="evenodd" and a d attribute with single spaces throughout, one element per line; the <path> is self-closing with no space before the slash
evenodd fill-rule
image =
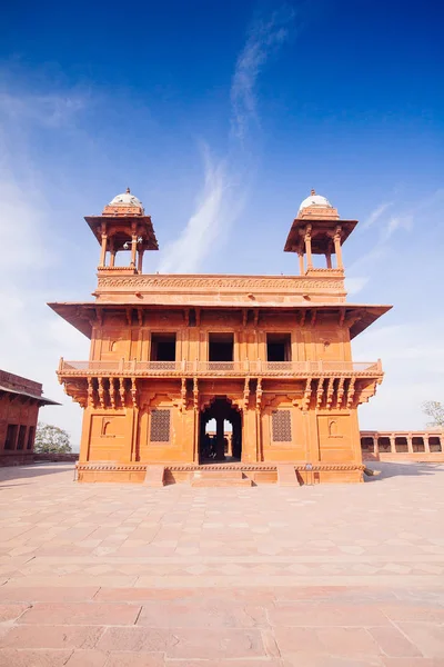
<path id="1" fill-rule="evenodd" d="M 180 237 L 167 247 L 160 262 L 162 272 L 199 270 L 214 240 L 241 215 L 253 161 L 244 150 L 244 139 L 250 121 L 258 121 L 258 79 L 266 61 L 289 38 L 293 18 L 294 9 L 284 4 L 252 24 L 232 78 L 231 150 L 221 159 L 214 158 L 204 147 L 204 182 L 196 197 L 195 210 Z M 235 148 L 243 149 L 241 160 Z M 249 169 L 246 162 L 250 162 Z M 238 175 L 235 180 L 233 173 Z"/>

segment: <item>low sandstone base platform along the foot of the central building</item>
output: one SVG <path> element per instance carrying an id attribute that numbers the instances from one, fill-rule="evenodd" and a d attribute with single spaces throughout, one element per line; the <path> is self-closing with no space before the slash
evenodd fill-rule
<path id="1" fill-rule="evenodd" d="M 163 474 L 159 474 L 159 464 L 155 464 L 155 480 L 161 479 L 163 486 L 171 484 L 189 484 L 193 487 L 218 486 L 258 486 L 262 484 L 280 484 L 287 486 L 289 469 L 294 470 L 294 486 L 315 484 L 347 484 L 363 481 L 364 468 L 362 464 L 334 464 L 334 462 L 285 462 L 285 477 L 282 476 L 282 462 L 276 464 L 164 464 Z M 150 464 L 118 464 L 91 462 L 77 465 L 77 479 L 84 482 L 130 482 L 150 485 Z M 281 474 L 280 474 L 281 472 Z M 293 486 L 293 485 L 292 485 Z"/>

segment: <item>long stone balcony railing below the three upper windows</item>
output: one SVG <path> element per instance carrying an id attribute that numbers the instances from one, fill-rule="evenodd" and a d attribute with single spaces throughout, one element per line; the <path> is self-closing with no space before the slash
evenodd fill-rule
<path id="1" fill-rule="evenodd" d="M 330 377 L 382 376 L 377 361 L 65 361 L 60 359 L 59 377 Z"/>

